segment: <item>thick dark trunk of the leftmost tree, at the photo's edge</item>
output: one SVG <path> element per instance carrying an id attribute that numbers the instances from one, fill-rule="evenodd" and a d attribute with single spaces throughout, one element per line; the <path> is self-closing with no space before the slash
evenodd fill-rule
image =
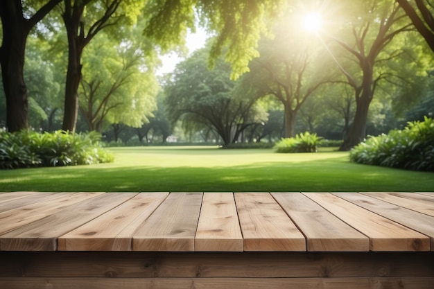
<path id="1" fill-rule="evenodd" d="M 28 128 L 24 57 L 29 28 L 24 23 L 22 15 L 19 15 L 18 11 L 15 10 L 16 7 L 12 8 L 14 4 L 11 2 L 2 1 L 0 6 L 0 16 L 3 24 L 0 64 L 6 95 L 6 127 L 9 132 L 17 132 Z M 8 29 L 5 28 L 6 26 Z"/>

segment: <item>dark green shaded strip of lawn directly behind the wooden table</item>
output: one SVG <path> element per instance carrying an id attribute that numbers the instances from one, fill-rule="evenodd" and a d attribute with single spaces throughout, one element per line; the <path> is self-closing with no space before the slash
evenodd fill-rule
<path id="1" fill-rule="evenodd" d="M 352 164 L 345 158 L 232 167 L 80 166 L 20 170 L 0 191 L 432 191 L 433 173 Z"/>

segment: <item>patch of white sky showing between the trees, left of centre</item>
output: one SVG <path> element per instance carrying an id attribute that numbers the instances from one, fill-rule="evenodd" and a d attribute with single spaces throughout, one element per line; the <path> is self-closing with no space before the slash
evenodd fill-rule
<path id="1" fill-rule="evenodd" d="M 197 49 L 205 46 L 207 37 L 208 35 L 205 30 L 200 27 L 196 28 L 196 33 L 188 33 L 186 36 L 186 46 L 187 49 L 189 49 L 189 55 Z M 184 58 L 181 58 L 174 52 L 162 55 L 161 59 L 162 67 L 157 70 L 157 75 L 159 76 L 172 72 L 175 69 L 176 64 L 184 60 Z"/>

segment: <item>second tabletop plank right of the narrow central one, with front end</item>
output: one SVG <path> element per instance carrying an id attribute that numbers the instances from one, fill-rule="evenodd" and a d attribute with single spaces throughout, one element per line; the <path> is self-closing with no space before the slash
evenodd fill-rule
<path id="1" fill-rule="evenodd" d="M 370 240 L 301 193 L 272 193 L 307 239 L 308 251 L 369 251 Z"/>

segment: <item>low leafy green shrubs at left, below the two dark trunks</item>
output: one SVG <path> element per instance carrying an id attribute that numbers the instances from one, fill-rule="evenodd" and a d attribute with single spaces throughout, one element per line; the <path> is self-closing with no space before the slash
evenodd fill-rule
<path id="1" fill-rule="evenodd" d="M 0 132 L 0 168 L 76 166 L 112 162 L 114 156 L 100 145 L 101 134 L 40 134 L 30 130 Z"/>

